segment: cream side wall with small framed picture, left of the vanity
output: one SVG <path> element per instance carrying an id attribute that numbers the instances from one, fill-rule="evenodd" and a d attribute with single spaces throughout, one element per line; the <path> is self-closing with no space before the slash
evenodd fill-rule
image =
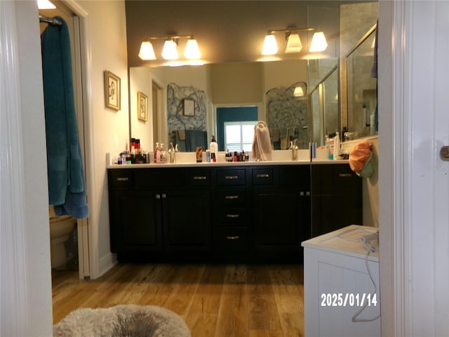
<path id="1" fill-rule="evenodd" d="M 107 152 L 119 154 L 129 142 L 128 62 L 124 1 L 79 1 L 88 13 L 86 34 L 91 46 L 91 116 L 88 122 L 91 181 L 88 200 L 91 213 L 89 237 L 91 277 L 109 270 L 115 262 L 109 245 L 109 206 L 107 191 Z M 109 70 L 121 78 L 121 110 L 105 107 L 103 72 Z"/>

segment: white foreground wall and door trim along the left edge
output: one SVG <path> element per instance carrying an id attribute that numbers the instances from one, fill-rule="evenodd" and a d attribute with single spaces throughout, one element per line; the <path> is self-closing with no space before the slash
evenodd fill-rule
<path id="1" fill-rule="evenodd" d="M 0 335 L 51 336 L 46 138 L 35 1 L 0 1 L 0 45 Z"/>

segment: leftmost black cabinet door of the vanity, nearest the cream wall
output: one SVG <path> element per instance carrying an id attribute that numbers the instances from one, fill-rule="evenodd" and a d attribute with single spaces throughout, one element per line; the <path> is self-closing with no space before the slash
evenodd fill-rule
<path id="1" fill-rule="evenodd" d="M 115 216 L 118 251 L 127 249 L 162 249 L 160 194 L 149 191 L 115 193 Z"/>

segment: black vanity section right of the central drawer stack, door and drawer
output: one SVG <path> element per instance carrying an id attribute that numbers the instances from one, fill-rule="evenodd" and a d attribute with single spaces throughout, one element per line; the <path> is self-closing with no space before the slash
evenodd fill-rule
<path id="1" fill-rule="evenodd" d="M 302 261 L 310 227 L 309 166 L 253 170 L 255 254 L 267 261 Z"/>

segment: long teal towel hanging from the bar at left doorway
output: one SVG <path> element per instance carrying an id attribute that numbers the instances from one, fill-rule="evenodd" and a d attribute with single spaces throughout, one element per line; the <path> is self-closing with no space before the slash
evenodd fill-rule
<path id="1" fill-rule="evenodd" d="M 49 204 L 57 215 L 87 218 L 86 180 L 74 105 L 72 56 L 67 23 L 41 34 Z"/>

